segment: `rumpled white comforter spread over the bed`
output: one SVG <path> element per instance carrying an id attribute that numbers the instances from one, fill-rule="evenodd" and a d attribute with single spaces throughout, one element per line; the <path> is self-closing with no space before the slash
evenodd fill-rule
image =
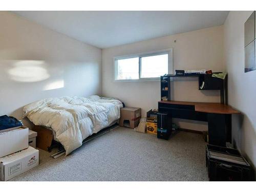
<path id="1" fill-rule="evenodd" d="M 119 100 L 93 95 L 42 99 L 24 106 L 23 111 L 35 125 L 51 127 L 68 155 L 83 139 L 119 119 L 120 108 Z"/>

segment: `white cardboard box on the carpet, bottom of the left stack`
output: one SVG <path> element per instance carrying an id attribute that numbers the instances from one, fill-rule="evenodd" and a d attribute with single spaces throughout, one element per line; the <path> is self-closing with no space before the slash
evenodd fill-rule
<path id="1" fill-rule="evenodd" d="M 39 164 L 39 151 L 29 146 L 26 150 L 0 158 L 0 180 L 8 181 Z"/>

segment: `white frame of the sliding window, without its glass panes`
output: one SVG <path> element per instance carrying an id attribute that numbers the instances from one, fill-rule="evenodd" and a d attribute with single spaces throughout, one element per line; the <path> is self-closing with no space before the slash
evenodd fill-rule
<path id="1" fill-rule="evenodd" d="M 151 51 L 146 53 L 116 56 L 114 57 L 114 82 L 143 82 L 143 81 L 160 81 L 160 77 L 140 77 L 141 76 L 141 57 L 168 54 L 168 74 L 173 74 L 173 48 Z M 139 78 L 138 79 L 117 79 L 117 60 L 139 57 Z M 164 74 L 163 74 L 164 75 Z"/>

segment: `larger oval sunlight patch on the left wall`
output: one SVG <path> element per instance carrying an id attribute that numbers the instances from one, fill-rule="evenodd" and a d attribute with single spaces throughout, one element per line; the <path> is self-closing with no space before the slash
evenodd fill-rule
<path id="1" fill-rule="evenodd" d="M 42 66 L 45 61 L 22 60 L 13 64 L 8 71 L 10 78 L 20 82 L 37 82 L 50 77 L 48 71 Z"/>

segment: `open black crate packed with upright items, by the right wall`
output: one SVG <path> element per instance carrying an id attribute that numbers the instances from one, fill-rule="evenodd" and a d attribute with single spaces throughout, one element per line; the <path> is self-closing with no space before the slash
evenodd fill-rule
<path id="1" fill-rule="evenodd" d="M 210 181 L 250 181 L 251 168 L 238 150 L 206 145 L 206 167 Z"/>

